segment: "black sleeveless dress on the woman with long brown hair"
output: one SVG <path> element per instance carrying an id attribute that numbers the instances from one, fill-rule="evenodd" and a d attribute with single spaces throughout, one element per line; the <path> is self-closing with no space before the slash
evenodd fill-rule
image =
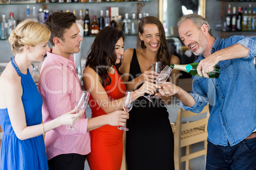
<path id="1" fill-rule="evenodd" d="M 141 75 L 136 55 L 132 55 L 129 81 Z M 141 84 L 142 85 L 142 84 Z M 140 87 L 140 86 L 139 86 Z M 138 87 L 138 88 L 139 88 Z M 173 131 L 164 101 L 148 101 L 141 96 L 134 101 L 127 120 L 126 159 L 128 169 L 174 169 Z"/>

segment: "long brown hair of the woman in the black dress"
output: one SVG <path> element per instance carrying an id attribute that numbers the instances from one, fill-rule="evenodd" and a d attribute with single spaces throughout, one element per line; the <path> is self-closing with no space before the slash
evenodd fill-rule
<path id="1" fill-rule="evenodd" d="M 148 23 L 153 23 L 153 24 L 157 25 L 157 27 L 159 29 L 160 48 L 159 48 L 159 51 L 157 52 L 157 61 L 162 62 L 162 66 L 164 68 L 164 67 L 166 67 L 166 65 L 170 64 L 171 54 L 169 53 L 169 49 L 167 47 L 166 33 L 164 32 L 164 27 L 162 26 L 162 23 L 160 22 L 160 20 L 158 18 L 156 18 L 155 16 L 146 16 L 145 18 L 143 18 L 141 20 L 141 22 L 139 22 L 138 38 L 139 38 L 139 32 L 140 32 L 140 34 L 143 34 L 144 25 L 146 25 Z M 140 39 L 139 39 L 139 41 L 140 41 L 139 44 L 140 44 L 141 48 L 145 49 L 146 46 L 145 46 L 144 41 L 141 41 Z"/>

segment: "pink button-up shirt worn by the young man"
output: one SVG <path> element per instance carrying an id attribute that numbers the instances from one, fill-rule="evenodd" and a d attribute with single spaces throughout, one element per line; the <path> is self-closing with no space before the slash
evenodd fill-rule
<path id="1" fill-rule="evenodd" d="M 43 98 L 43 122 L 73 110 L 82 93 L 73 55 L 67 59 L 47 52 L 41 66 L 38 88 Z M 60 154 L 89 154 L 90 134 L 87 132 L 87 123 L 86 114 L 83 114 L 74 124 L 76 131 L 69 131 L 66 125 L 48 131 L 45 134 L 47 159 Z"/>

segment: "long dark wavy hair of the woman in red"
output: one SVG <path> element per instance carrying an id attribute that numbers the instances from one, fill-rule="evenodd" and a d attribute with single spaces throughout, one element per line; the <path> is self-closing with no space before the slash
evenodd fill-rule
<path id="1" fill-rule="evenodd" d="M 94 71 L 99 75 L 103 87 L 111 84 L 108 69 L 110 69 L 112 65 L 115 65 L 118 72 L 121 65 L 121 62 L 115 64 L 117 60 L 115 44 L 121 37 L 124 40 L 124 33 L 121 30 L 114 29 L 111 26 L 104 27 L 99 31 L 92 43 L 92 46 L 90 47 L 90 53 L 87 56 L 85 66 L 87 67 L 89 65 L 94 69 Z"/>

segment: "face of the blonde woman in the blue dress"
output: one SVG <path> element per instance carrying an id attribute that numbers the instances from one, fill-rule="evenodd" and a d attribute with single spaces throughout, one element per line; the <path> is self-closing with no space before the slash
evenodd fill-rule
<path id="1" fill-rule="evenodd" d="M 29 58 L 31 58 L 30 60 L 32 62 L 43 62 L 43 57 L 45 56 L 46 52 L 50 51 L 48 41 L 30 48 L 31 52 L 29 53 Z"/>

